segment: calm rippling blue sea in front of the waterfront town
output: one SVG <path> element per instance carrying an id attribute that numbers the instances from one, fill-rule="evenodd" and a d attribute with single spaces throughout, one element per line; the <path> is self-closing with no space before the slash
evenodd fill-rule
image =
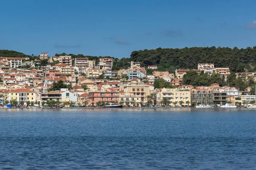
<path id="1" fill-rule="evenodd" d="M 256 169 L 256 110 L 0 109 L 0 169 Z"/>

